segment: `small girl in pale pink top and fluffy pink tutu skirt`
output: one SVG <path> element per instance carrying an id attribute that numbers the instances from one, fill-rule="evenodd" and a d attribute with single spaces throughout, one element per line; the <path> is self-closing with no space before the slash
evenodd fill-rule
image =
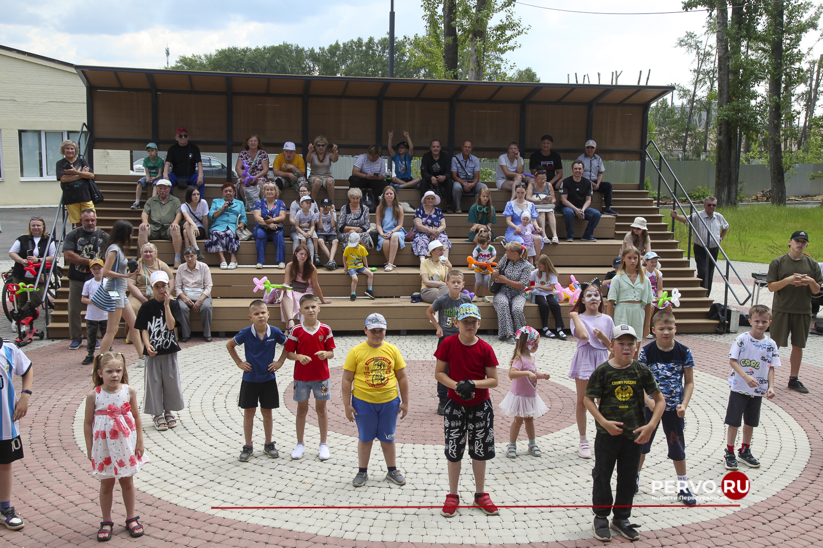
<path id="1" fill-rule="evenodd" d="M 509 429 L 509 447 L 506 448 L 506 456 L 517 457 L 517 436 L 520 433 L 520 426 L 523 426 L 525 422 L 528 452 L 539 457 L 540 449 L 537 447 L 537 436 L 534 433 L 534 419 L 546 413 L 549 408 L 537 395 L 537 379 L 548 380 L 549 374 L 538 373 L 534 357 L 532 357 L 532 353 L 540 344 L 540 335 L 537 330 L 526 325 L 518 329 L 514 338 L 517 342 L 514 344 L 514 355 L 509 369 L 509 380 L 512 381 L 512 387 L 509 389 L 509 394 L 506 394 L 500 402 L 500 410 L 504 415 L 514 416 L 514 422 Z"/>

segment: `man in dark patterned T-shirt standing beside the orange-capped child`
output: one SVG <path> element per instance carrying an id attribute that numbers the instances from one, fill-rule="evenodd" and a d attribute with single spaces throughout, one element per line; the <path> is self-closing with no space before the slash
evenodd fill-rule
<path id="1" fill-rule="evenodd" d="M 80 302 L 83 284 L 92 278 L 89 261 L 105 259 L 105 242 L 109 235 L 97 228 L 95 210 L 82 210 L 81 226 L 66 235 L 63 241 L 63 257 L 68 266 L 68 338 L 70 349 L 77 350 L 83 342 L 81 312 L 85 305 Z"/>

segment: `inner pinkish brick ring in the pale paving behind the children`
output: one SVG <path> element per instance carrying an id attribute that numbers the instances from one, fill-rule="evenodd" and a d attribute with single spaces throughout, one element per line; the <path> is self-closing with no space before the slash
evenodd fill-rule
<path id="1" fill-rule="evenodd" d="M 434 418 L 432 415 L 436 412 L 438 401 L 435 362 L 408 360 L 406 366 L 408 374 L 412 375 L 409 385 L 409 417 Z M 500 370 L 501 376 L 505 375 L 504 371 L 504 369 Z M 343 369 L 342 367 L 332 367 L 329 372 L 331 374 L 332 399 L 327 405 L 328 429 L 338 434 L 350 435 L 356 438 L 357 426 L 346 420 L 346 413 L 342 405 L 339 404 Z M 286 403 L 286 408 L 292 413 L 296 413 L 297 403 L 292 398 L 292 392 L 293 383 L 289 383 L 283 388 L 281 403 Z M 548 406 L 549 412 L 534 421 L 535 430 L 541 432 L 541 435 L 546 435 L 575 424 L 574 404 L 577 400 L 574 391 L 551 382 L 551 380 L 548 382 L 544 380 L 538 385 L 538 393 Z M 499 400 L 497 403 L 499 403 Z M 509 426 L 511 426 L 513 420 L 514 417 L 495 415 L 495 431 L 509 431 Z M 309 398 L 309 414 L 306 421 L 309 424 L 317 424 L 314 398 Z M 421 421 L 411 420 L 411 418 L 409 421 L 398 421 L 395 439 L 404 444 L 443 444 L 442 421 Z"/>

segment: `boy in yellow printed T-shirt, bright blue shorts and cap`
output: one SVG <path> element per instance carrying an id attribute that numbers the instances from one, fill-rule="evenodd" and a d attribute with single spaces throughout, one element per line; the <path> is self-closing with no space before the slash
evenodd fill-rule
<path id="1" fill-rule="evenodd" d="M 406 362 L 400 350 L 386 338 L 386 319 L 370 314 L 365 319 L 364 343 L 352 348 L 343 364 L 342 394 L 346 418 L 357 423 L 357 466 L 355 487 L 365 486 L 374 438 L 380 440 L 388 473 L 385 480 L 402 486 L 406 479 L 398 471 L 394 448 L 394 431 L 400 418 L 406 417 L 409 383 Z M 399 397 L 398 397 L 399 392 Z"/>

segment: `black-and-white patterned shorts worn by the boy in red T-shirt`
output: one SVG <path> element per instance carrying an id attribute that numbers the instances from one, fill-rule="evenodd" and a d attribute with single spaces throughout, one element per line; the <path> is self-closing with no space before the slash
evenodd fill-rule
<path id="1" fill-rule="evenodd" d="M 472 459 L 495 458 L 495 412 L 491 398 L 468 407 L 449 399 L 444 413 L 445 454 L 449 462 L 458 463 L 463 459 L 467 443 L 468 456 Z"/>

